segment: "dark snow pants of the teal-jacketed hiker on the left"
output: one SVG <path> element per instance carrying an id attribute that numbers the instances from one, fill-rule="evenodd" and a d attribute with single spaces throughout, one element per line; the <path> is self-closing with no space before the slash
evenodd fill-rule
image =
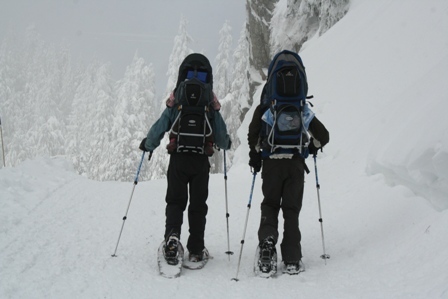
<path id="1" fill-rule="evenodd" d="M 187 249 L 201 253 L 204 249 L 204 231 L 208 207 L 208 180 L 210 163 L 205 155 L 173 154 L 170 157 L 166 192 L 165 240 L 172 234 L 181 234 L 183 213 L 187 207 L 190 236 Z"/>

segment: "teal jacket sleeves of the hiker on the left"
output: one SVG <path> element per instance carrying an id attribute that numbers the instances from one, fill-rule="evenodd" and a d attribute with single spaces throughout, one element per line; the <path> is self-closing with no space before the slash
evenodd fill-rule
<path id="1" fill-rule="evenodd" d="M 178 114 L 179 110 L 177 106 L 165 108 L 160 118 L 152 125 L 146 136 L 145 147 L 148 151 L 153 152 L 160 145 L 160 140 L 162 140 L 166 132 L 170 131 Z M 219 111 L 212 110 L 210 123 L 213 129 L 215 144 L 220 149 L 230 149 L 230 137 L 227 134 L 226 124 Z"/>

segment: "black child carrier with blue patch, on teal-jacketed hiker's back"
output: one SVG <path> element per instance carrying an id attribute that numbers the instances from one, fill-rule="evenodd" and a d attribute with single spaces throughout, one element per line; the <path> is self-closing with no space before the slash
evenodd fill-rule
<path id="1" fill-rule="evenodd" d="M 179 114 L 170 130 L 168 152 L 213 155 L 211 74 L 210 63 L 201 54 L 191 54 L 181 64 L 173 108 Z"/>

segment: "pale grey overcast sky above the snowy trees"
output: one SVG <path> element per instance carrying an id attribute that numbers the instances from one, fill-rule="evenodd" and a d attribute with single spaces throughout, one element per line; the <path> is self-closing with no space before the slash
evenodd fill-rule
<path id="1" fill-rule="evenodd" d="M 111 62 L 115 79 L 123 77 L 138 50 L 161 76 L 166 70 L 180 16 L 188 20 L 191 48 L 204 52 L 214 66 L 219 30 L 226 20 L 236 46 L 245 20 L 245 0 L 0 0 L 0 38 L 8 30 L 34 25 L 46 42 L 67 40 L 75 59 Z"/>

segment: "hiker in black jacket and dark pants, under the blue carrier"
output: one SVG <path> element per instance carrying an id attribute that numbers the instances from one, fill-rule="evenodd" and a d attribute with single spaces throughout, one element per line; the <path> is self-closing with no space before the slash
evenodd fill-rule
<path id="1" fill-rule="evenodd" d="M 249 165 L 254 172 L 262 170 L 262 191 L 264 199 L 261 203 L 261 221 L 258 230 L 260 252 L 266 251 L 270 256 L 276 255 L 275 245 L 278 241 L 278 214 L 283 212 L 284 229 L 280 245 L 285 272 L 297 274 L 303 271 L 301 234 L 299 229 L 299 213 L 302 208 L 305 161 L 300 154 L 288 158 L 274 154 L 262 159 L 260 149 L 260 130 L 262 127 L 262 111 L 259 105 L 249 125 Z M 311 134 L 309 152 L 317 151 L 329 142 L 329 133 L 325 126 L 314 116 L 309 123 Z"/>

